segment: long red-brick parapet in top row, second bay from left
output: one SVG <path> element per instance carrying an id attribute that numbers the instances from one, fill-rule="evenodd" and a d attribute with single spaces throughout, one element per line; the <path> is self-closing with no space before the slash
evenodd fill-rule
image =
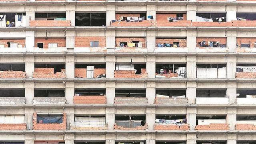
<path id="1" fill-rule="evenodd" d="M 30 20 L 30 26 L 71 26 L 70 20 Z"/>

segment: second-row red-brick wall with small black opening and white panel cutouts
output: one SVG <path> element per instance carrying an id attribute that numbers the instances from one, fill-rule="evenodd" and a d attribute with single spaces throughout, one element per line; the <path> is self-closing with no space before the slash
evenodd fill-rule
<path id="1" fill-rule="evenodd" d="M 66 47 L 66 39 L 65 38 L 35 38 L 35 47 L 37 47 L 37 43 L 44 43 L 44 48 L 48 48 L 48 43 L 58 43 L 58 47 Z"/>

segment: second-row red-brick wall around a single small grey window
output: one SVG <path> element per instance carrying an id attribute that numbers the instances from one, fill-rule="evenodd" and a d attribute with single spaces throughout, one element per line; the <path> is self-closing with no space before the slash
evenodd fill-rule
<path id="1" fill-rule="evenodd" d="M 90 47 L 90 41 L 99 41 L 99 47 L 106 47 L 104 36 L 76 36 L 75 47 Z"/>

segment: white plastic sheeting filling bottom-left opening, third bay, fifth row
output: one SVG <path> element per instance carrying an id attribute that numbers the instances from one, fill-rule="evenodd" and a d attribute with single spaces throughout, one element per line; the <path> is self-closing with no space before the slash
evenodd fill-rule
<path id="1" fill-rule="evenodd" d="M 80 127 L 104 127 L 106 125 L 105 117 L 75 117 L 74 126 Z"/>

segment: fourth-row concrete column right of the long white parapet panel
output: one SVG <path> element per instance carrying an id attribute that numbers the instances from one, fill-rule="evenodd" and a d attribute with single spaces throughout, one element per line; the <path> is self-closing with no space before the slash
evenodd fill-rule
<path id="1" fill-rule="evenodd" d="M 236 104 L 236 82 L 228 82 L 226 95 L 229 98 L 230 105 Z"/>

